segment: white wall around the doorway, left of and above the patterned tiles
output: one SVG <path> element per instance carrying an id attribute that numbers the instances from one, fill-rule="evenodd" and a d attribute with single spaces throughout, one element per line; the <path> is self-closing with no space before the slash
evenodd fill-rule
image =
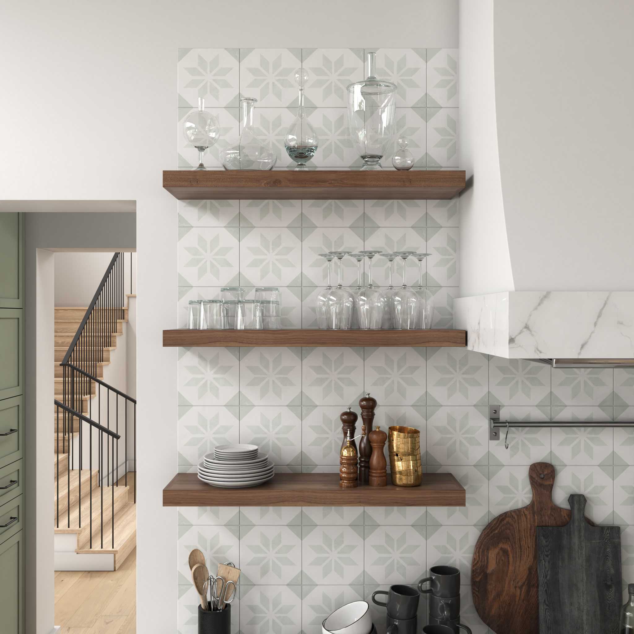
<path id="1" fill-rule="evenodd" d="M 457 0 L 403 0 L 398 10 L 384 0 L 3 6 L 0 55 L 12 61 L 0 66 L 0 115 L 33 123 L 0 127 L 3 197 L 137 202 L 139 634 L 176 631 L 176 509 L 162 507 L 162 488 L 177 471 L 177 351 L 160 343 L 176 325 L 176 201 L 160 183 L 176 166 L 177 49 L 457 48 L 457 8 Z"/>

